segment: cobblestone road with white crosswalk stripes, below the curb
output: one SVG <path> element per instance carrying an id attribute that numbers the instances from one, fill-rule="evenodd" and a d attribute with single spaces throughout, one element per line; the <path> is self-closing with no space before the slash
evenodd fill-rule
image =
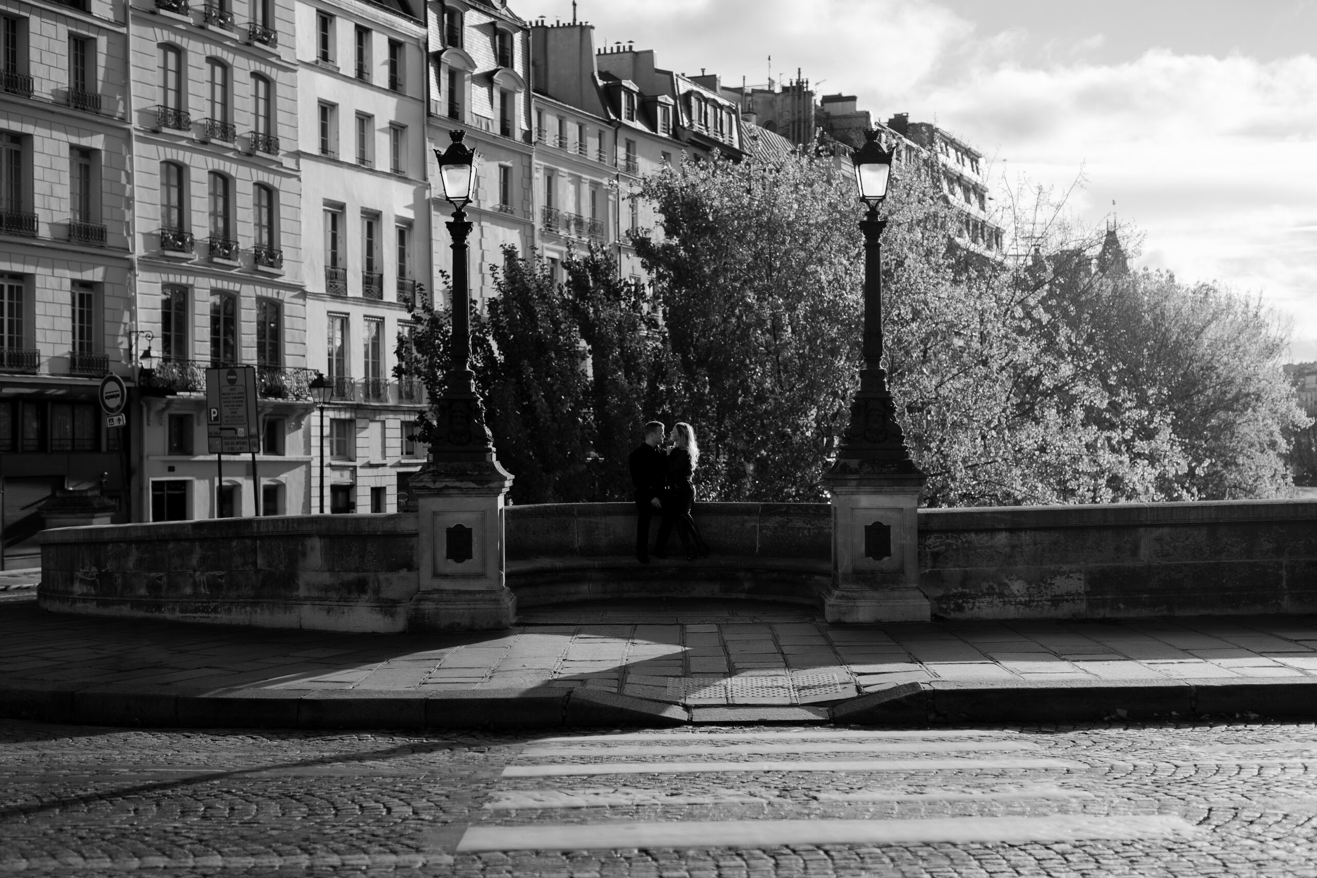
<path id="1" fill-rule="evenodd" d="M 715 763 L 715 765 L 711 765 Z M 1317 727 L 0 721 L 0 874 L 1317 875 Z"/>

